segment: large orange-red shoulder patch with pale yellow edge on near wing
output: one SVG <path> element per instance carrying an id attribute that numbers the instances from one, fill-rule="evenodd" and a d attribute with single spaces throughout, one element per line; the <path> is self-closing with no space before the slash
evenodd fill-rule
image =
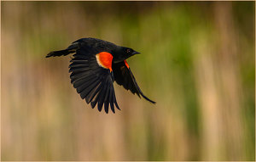
<path id="1" fill-rule="evenodd" d="M 111 53 L 102 52 L 96 54 L 97 63 L 102 66 L 102 68 L 109 69 L 112 71 L 112 59 L 113 56 Z"/>

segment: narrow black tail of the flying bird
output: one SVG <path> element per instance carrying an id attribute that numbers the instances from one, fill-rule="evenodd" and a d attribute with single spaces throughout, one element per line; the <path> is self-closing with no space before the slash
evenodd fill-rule
<path id="1" fill-rule="evenodd" d="M 75 53 L 78 48 L 79 48 L 79 43 L 78 42 L 74 42 L 72 45 L 67 47 L 67 49 L 63 49 L 63 50 L 60 50 L 60 51 L 49 52 L 46 55 L 46 58 L 55 57 L 55 56 L 66 56 L 69 53 Z"/>

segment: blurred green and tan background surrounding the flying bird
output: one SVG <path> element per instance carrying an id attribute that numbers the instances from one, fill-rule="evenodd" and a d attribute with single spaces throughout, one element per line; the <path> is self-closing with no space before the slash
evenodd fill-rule
<path id="1" fill-rule="evenodd" d="M 2 160 L 255 160 L 254 2 L 1 2 Z M 121 111 L 70 84 L 82 37 L 128 59 L 156 105 L 114 83 Z"/>

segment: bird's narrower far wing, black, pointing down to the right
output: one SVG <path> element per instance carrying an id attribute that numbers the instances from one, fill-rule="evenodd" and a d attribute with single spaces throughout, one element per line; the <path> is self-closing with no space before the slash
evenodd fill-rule
<path id="1" fill-rule="evenodd" d="M 140 87 L 137 85 L 137 81 L 135 80 L 134 75 L 131 72 L 130 67 L 126 63 L 126 61 L 112 64 L 113 67 L 113 75 L 114 80 L 120 85 L 125 87 L 125 89 L 130 90 L 133 94 L 137 94 L 139 98 L 143 96 L 146 100 L 148 100 L 150 103 L 155 103 L 151 99 L 147 98 Z"/>

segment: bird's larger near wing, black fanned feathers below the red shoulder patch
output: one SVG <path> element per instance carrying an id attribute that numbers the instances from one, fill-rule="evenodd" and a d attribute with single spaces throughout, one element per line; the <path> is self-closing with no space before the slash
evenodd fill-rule
<path id="1" fill-rule="evenodd" d="M 90 103 L 92 109 L 97 104 L 98 110 L 102 111 L 104 104 L 105 112 L 108 113 L 110 105 L 114 113 L 113 104 L 117 109 L 119 106 L 114 94 L 112 72 L 99 64 L 97 53 L 101 52 L 84 44 L 76 50 L 69 65 L 71 83 L 81 98 Z"/>

